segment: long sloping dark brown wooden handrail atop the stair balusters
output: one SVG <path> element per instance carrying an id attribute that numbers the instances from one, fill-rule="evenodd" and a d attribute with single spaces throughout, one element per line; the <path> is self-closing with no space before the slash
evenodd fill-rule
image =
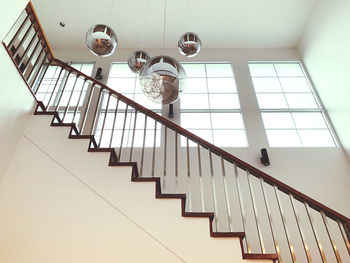
<path id="1" fill-rule="evenodd" d="M 188 130 L 173 123 L 172 121 L 169 121 L 168 119 L 158 115 L 157 113 L 143 107 L 142 105 L 138 104 L 137 102 L 135 102 L 135 101 L 125 97 L 124 95 L 116 92 L 115 90 L 109 88 L 108 86 L 101 83 L 100 81 L 98 81 L 98 80 L 78 71 L 77 69 L 67 65 L 66 63 L 62 62 L 61 60 L 54 58 L 52 60 L 52 65 L 61 66 L 65 70 L 67 70 L 75 75 L 79 75 L 79 76 L 91 81 L 95 85 L 101 86 L 101 88 L 103 88 L 103 89 L 109 91 L 111 94 L 117 96 L 122 102 L 133 107 L 137 111 L 146 114 L 147 116 L 155 119 L 157 122 L 160 122 L 163 125 L 167 126 L 168 128 L 174 130 L 175 132 L 185 136 L 186 138 L 191 139 L 192 141 L 198 143 L 202 147 L 210 150 L 212 153 L 215 153 L 219 156 L 222 156 L 225 160 L 227 160 L 230 163 L 236 164 L 239 168 L 241 168 L 245 171 L 249 171 L 249 173 L 252 174 L 253 176 L 255 176 L 257 178 L 262 178 L 266 183 L 268 183 L 272 186 L 277 186 L 277 188 L 279 190 L 281 190 L 282 192 L 284 192 L 286 194 L 292 194 L 295 199 L 299 200 L 300 202 L 307 203 L 313 209 L 315 209 L 317 211 L 325 212 L 325 214 L 328 217 L 330 217 L 334 220 L 341 220 L 343 223 L 347 224 L 348 228 L 350 229 L 350 219 L 348 217 L 346 217 L 346 216 L 332 210 L 331 208 L 321 204 L 320 202 L 308 197 L 307 195 L 305 195 L 305 194 L 297 191 L 296 189 L 286 185 L 285 183 L 277 180 L 276 178 L 264 173 L 263 171 L 255 168 L 254 166 L 242 161 L 241 159 L 224 151 L 223 149 L 218 148 L 217 146 L 207 142 L 206 140 L 203 140 L 202 138 L 196 136 L 195 134 L 189 132 Z"/>

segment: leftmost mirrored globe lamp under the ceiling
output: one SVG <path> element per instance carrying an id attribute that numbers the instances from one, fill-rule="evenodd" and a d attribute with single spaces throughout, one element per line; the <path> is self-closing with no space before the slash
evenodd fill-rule
<path id="1" fill-rule="evenodd" d="M 86 33 L 86 46 L 96 56 L 108 57 L 112 55 L 118 46 L 117 36 L 106 25 L 94 25 Z"/>

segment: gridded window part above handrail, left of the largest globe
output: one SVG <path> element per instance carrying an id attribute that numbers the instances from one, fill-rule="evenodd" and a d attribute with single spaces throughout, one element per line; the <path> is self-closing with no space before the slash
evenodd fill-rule
<path id="1" fill-rule="evenodd" d="M 112 63 L 107 86 L 150 110 L 161 112 L 162 105 L 153 103 L 142 93 L 139 78 L 128 63 Z"/>

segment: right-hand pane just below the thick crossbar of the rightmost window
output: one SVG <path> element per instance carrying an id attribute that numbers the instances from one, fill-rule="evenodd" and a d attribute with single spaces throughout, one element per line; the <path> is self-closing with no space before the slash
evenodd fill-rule
<path id="1" fill-rule="evenodd" d="M 322 116 L 321 112 L 295 112 L 292 113 L 295 121 L 295 125 L 299 129 L 307 128 L 323 128 L 327 129 L 327 124 Z"/>

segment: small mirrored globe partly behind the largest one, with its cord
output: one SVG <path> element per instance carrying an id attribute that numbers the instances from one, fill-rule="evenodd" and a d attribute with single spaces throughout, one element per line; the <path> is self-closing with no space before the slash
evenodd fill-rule
<path id="1" fill-rule="evenodd" d="M 143 45 L 144 45 L 144 41 L 145 41 L 145 27 L 146 27 L 147 15 L 148 15 L 148 0 L 146 0 L 146 12 L 145 12 L 144 21 L 143 21 L 141 49 L 132 52 L 129 56 L 129 59 L 128 59 L 129 68 L 134 73 L 140 73 L 143 65 L 151 58 L 148 55 L 148 53 L 143 50 Z"/>

